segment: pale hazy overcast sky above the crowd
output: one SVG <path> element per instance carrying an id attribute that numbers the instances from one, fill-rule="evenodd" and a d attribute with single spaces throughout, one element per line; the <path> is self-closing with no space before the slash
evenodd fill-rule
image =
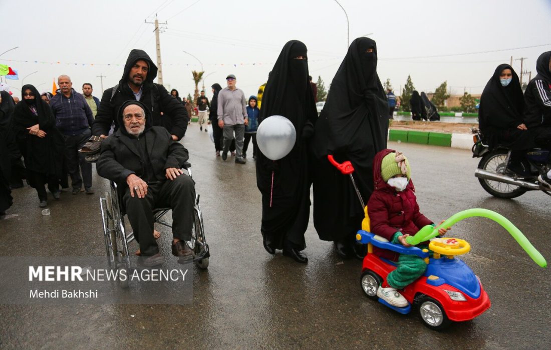
<path id="1" fill-rule="evenodd" d="M 419 91 L 434 91 L 447 80 L 452 93 L 462 94 L 464 87 L 482 92 L 495 67 L 511 56 L 526 57 L 523 68 L 534 76 L 537 57 L 551 50 L 550 0 L 339 2 L 348 13 L 350 42 L 372 33 L 379 78 L 390 78 L 396 92 L 408 74 Z M 156 62 L 154 25 L 144 23 L 154 21 L 155 13 L 168 21 L 160 35 L 164 85 L 180 95 L 193 94 L 191 70 L 201 70 L 182 50 L 202 62 L 207 96 L 210 85 L 224 87 L 230 73 L 249 96 L 291 39 L 306 44 L 310 75 L 320 75 L 326 87 L 348 47 L 346 17 L 334 0 L 0 0 L 0 53 L 19 46 L 0 57 L 19 70 L 20 80 L 7 83 L 20 96 L 25 75 L 38 71 L 24 82 L 42 92 L 51 90 L 53 78 L 68 74 L 77 91 L 89 82 L 101 96 L 98 75 L 106 76 L 104 89 L 117 84 L 132 48 Z M 539 47 L 523 48 L 530 46 Z M 520 49 L 506 50 L 511 48 Z M 486 51 L 496 52 L 476 53 Z M 520 61 L 513 67 L 520 73 Z"/>

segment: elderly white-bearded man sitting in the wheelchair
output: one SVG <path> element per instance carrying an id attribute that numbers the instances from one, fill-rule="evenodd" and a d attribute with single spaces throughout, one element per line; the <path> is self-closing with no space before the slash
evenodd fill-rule
<path id="1" fill-rule="evenodd" d="M 164 262 L 153 236 L 154 210 L 159 207 L 172 209 L 172 254 L 193 259 L 186 241 L 193 242 L 195 182 L 181 169 L 187 150 L 165 128 L 152 125 L 147 107 L 139 101 L 123 103 L 118 118 L 124 127 L 102 142 L 96 169 L 116 183 L 118 203 L 126 211 L 141 255 L 147 257 L 144 265 Z"/>

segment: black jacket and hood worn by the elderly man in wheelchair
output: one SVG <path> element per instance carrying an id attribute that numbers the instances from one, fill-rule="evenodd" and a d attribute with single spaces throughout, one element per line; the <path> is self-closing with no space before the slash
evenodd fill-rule
<path id="1" fill-rule="evenodd" d="M 124 108 L 132 104 L 145 111 L 145 129 L 139 136 L 128 134 L 122 119 Z M 164 182 L 166 168 L 180 168 L 188 160 L 187 150 L 172 140 L 165 128 L 151 125 L 151 113 L 143 103 L 136 100 L 122 103 L 117 112 L 117 124 L 122 127 L 101 143 L 96 169 L 101 177 L 115 181 L 119 187 L 126 187 L 130 174 L 148 183 Z"/>

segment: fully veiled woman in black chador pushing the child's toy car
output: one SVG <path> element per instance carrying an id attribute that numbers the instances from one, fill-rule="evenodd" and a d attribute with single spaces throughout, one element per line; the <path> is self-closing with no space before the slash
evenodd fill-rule
<path id="1" fill-rule="evenodd" d="M 314 138 L 314 225 L 322 240 L 332 240 L 343 257 L 353 254 L 354 236 L 364 208 L 348 176 L 327 160 L 352 162 L 354 179 L 367 203 L 373 191 L 373 158 L 386 148 L 388 104 L 377 75 L 375 41 L 352 42 L 331 83 Z M 361 251 L 358 251 L 361 254 Z"/>

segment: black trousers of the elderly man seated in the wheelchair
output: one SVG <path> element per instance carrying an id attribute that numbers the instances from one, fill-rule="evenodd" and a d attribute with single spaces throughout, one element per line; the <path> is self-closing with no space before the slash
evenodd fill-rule
<path id="1" fill-rule="evenodd" d="M 159 247 L 153 237 L 153 209 L 155 208 L 172 208 L 172 237 L 181 240 L 191 239 L 195 182 L 186 174 L 172 181 L 148 184 L 145 198 L 138 198 L 135 193 L 132 197 L 130 189 L 126 187 L 122 201 L 142 256 L 159 253 Z"/>

